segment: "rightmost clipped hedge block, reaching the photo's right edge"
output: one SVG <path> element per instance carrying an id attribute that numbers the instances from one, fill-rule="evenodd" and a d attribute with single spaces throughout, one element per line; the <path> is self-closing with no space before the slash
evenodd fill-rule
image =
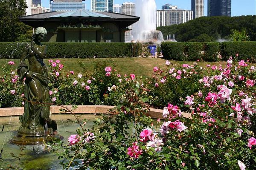
<path id="1" fill-rule="evenodd" d="M 227 60 L 230 56 L 236 57 L 236 60 L 247 60 L 256 62 L 256 42 L 222 42 L 221 43 L 221 55 L 224 60 Z"/>

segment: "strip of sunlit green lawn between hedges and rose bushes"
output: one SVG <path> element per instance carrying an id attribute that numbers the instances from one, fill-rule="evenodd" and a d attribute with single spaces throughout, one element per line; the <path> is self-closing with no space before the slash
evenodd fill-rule
<path id="1" fill-rule="evenodd" d="M 53 59 L 55 61 L 55 59 Z M 79 65 L 81 62 L 85 67 L 86 71 L 91 71 L 94 65 L 99 63 L 103 66 L 114 66 L 118 73 L 120 74 L 135 74 L 142 76 L 144 79 L 146 77 L 151 77 L 153 67 L 165 67 L 165 59 L 161 58 L 102 58 L 102 59 L 59 59 L 64 65 L 64 71 L 73 70 L 75 74 L 85 72 L 83 68 Z M 0 75 L 3 74 L 2 67 L 8 64 L 8 61 L 15 61 L 15 65 L 12 68 L 17 68 L 19 59 L 0 59 Z M 27 60 L 26 60 L 27 61 Z M 48 63 L 48 59 L 45 59 Z M 193 64 L 193 62 L 183 62 L 183 61 L 172 61 L 173 64 Z M 206 67 L 207 64 L 210 65 L 226 65 L 226 62 L 198 62 L 198 65 Z"/>

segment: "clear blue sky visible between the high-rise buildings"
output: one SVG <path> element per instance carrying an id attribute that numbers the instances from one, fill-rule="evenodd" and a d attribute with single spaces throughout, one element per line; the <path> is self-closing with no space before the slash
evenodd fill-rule
<path id="1" fill-rule="evenodd" d="M 155 0 L 157 9 L 161 9 L 166 3 L 178 6 L 181 9 L 191 10 L 191 0 Z M 42 6 L 49 8 L 49 0 L 41 0 Z M 135 2 L 135 0 L 114 0 L 114 4 Z M 256 0 L 232 0 L 231 15 L 256 15 Z M 86 9 L 91 8 L 91 0 L 85 0 Z M 204 0 L 204 15 L 207 16 L 207 0 Z"/>

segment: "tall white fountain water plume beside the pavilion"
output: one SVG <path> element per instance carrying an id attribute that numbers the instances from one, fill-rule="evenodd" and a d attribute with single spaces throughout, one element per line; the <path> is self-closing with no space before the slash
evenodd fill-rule
<path id="1" fill-rule="evenodd" d="M 137 40 L 162 42 L 163 34 L 156 31 L 156 11 L 157 6 L 155 0 L 136 0 L 136 16 L 140 20 L 136 23 L 135 34 Z"/>

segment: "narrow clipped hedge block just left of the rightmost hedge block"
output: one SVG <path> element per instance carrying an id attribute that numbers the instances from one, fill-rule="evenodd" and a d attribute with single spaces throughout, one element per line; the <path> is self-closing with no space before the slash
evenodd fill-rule
<path id="1" fill-rule="evenodd" d="M 218 42 L 204 43 L 204 61 L 218 61 L 218 51 L 220 51 L 220 44 Z"/>

